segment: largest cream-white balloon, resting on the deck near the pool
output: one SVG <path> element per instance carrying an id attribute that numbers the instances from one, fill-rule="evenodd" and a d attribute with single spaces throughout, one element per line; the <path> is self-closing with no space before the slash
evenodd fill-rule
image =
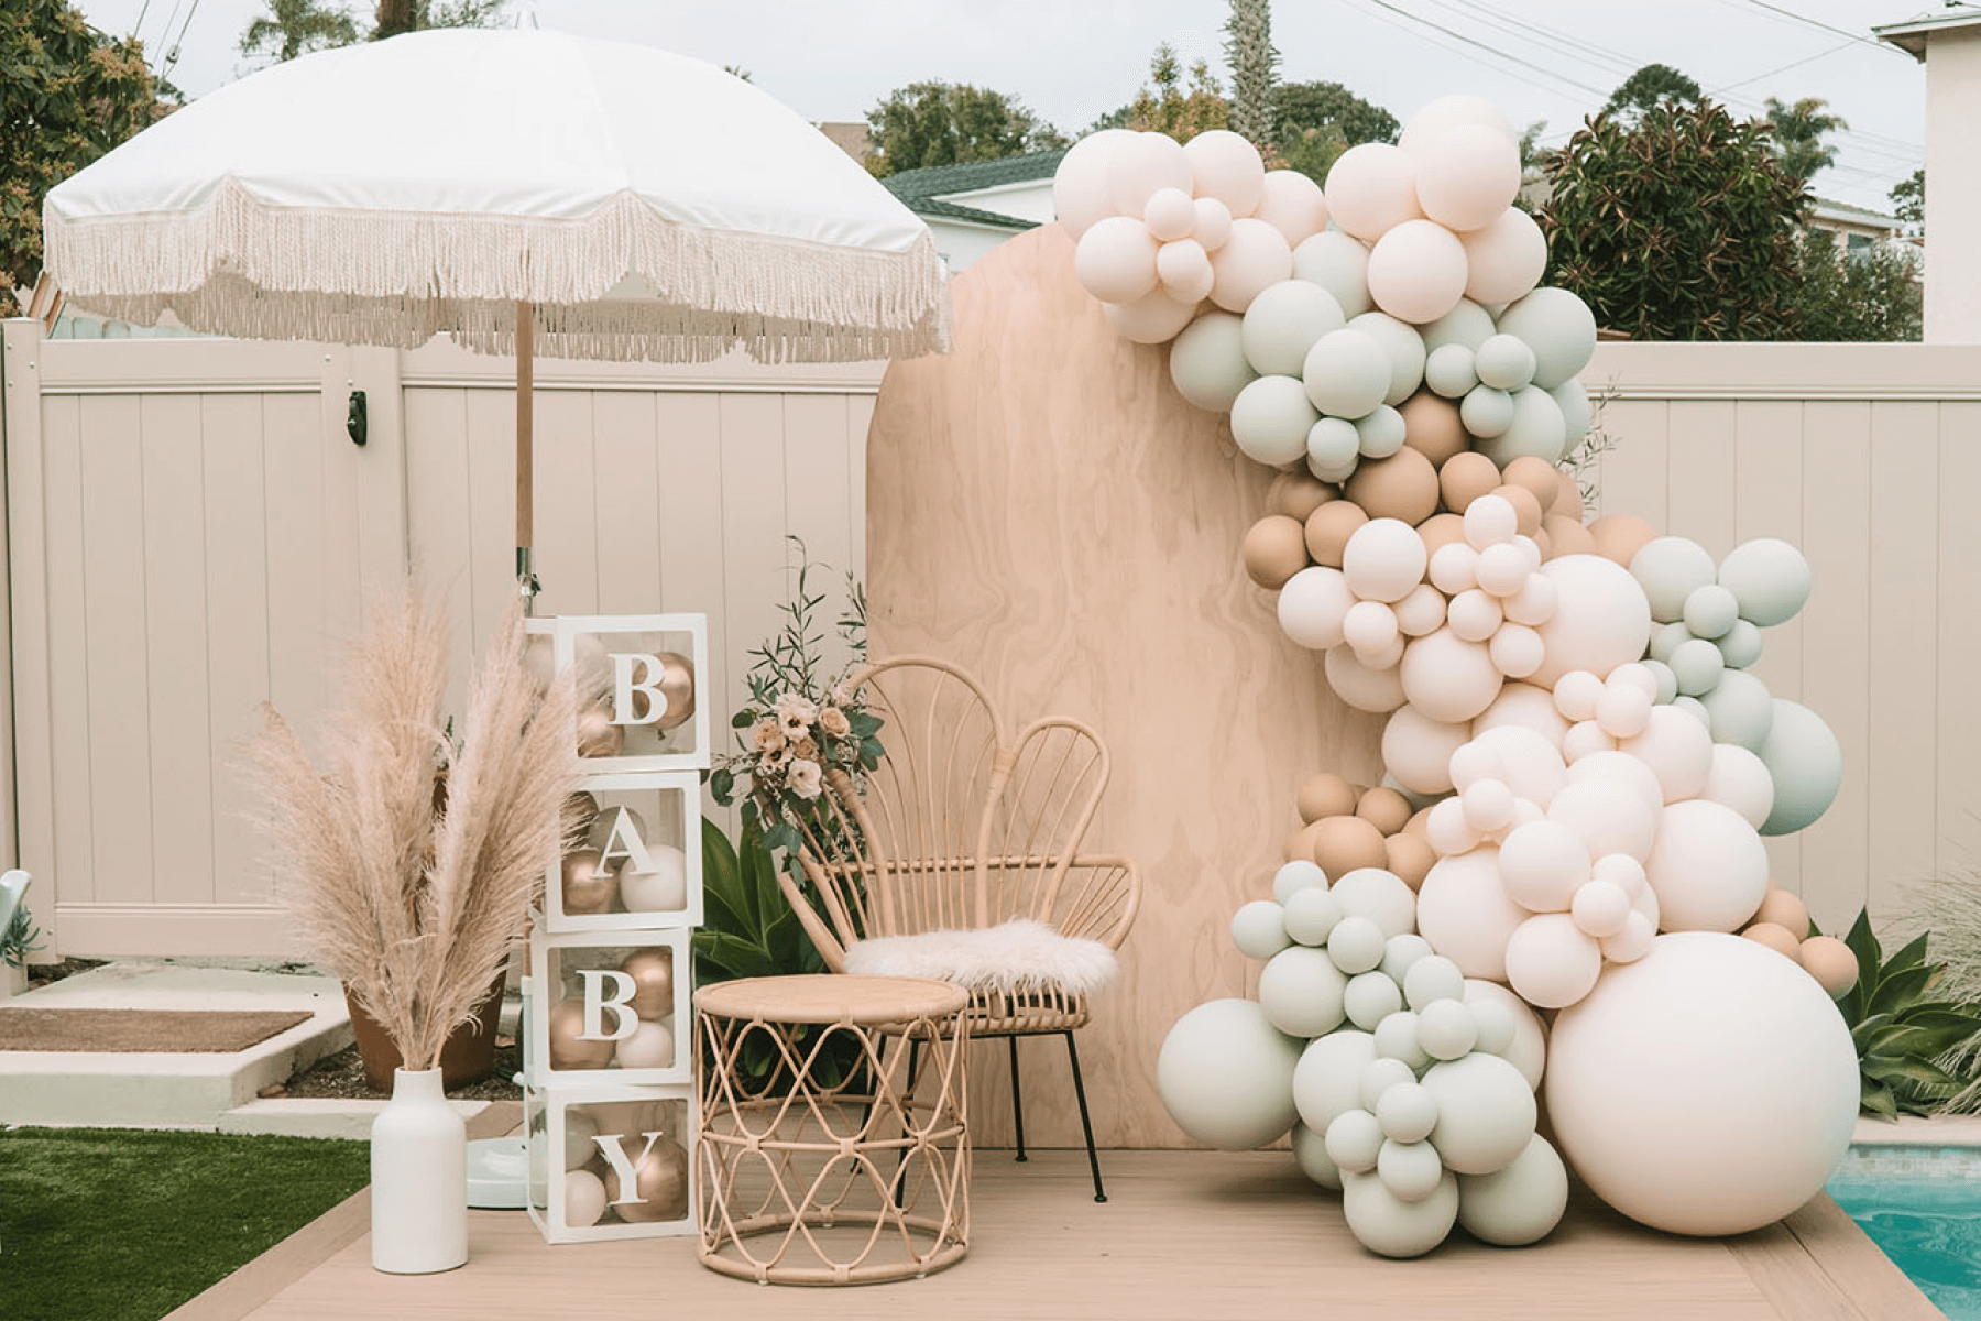
<path id="1" fill-rule="evenodd" d="M 1743 1234 L 1823 1190 L 1856 1127 L 1858 1062 L 1793 959 L 1664 935 L 1555 1018 L 1545 1097 L 1605 1202 L 1672 1234 Z"/>

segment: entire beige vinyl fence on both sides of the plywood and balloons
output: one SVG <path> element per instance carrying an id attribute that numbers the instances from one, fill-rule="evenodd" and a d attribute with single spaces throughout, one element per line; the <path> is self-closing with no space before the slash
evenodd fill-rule
<path id="1" fill-rule="evenodd" d="M 325 703 L 366 584 L 408 564 L 456 606 L 458 701 L 469 638 L 513 592 L 509 370 L 446 347 L 48 343 L 6 323 L 0 862 L 36 873 L 53 951 L 287 949 L 232 749 L 263 699 Z M 1759 673 L 1830 723 L 1846 776 L 1825 820 L 1771 844 L 1783 883 L 1834 929 L 1973 867 L 1981 347 L 1605 345 L 1585 380 L 1611 396 L 1605 511 L 1714 555 L 1785 537 L 1815 568 Z M 735 709 L 779 624 L 784 537 L 864 564 L 878 384 L 872 366 L 539 364 L 541 612 L 705 612 L 711 715 Z"/>

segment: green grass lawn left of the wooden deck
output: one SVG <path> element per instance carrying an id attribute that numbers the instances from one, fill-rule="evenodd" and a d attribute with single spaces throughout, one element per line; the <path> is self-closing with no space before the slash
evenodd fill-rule
<path id="1" fill-rule="evenodd" d="M 370 1182 L 370 1145 L 0 1131 L 0 1317 L 156 1321 Z"/>

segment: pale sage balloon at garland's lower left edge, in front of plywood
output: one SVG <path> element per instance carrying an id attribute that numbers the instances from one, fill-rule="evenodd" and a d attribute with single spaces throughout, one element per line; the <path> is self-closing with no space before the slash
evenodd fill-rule
<path id="1" fill-rule="evenodd" d="M 1206 1147 L 1250 1151 L 1294 1127 L 1302 1044 L 1254 1000 L 1210 1000 L 1177 1020 L 1155 1060 L 1155 1089 L 1177 1127 Z"/>

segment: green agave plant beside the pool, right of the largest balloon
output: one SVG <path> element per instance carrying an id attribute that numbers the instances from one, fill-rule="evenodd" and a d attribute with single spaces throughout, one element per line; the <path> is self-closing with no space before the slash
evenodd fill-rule
<path id="1" fill-rule="evenodd" d="M 1858 980 L 1836 1008 L 1850 1026 L 1860 1105 L 1870 1115 L 1931 1115 L 1973 1081 L 1937 1062 L 1981 1034 L 1981 1004 L 1931 998 L 1947 968 L 1926 961 L 1926 939 L 1922 931 L 1886 959 L 1868 911 L 1858 913 L 1844 937 L 1858 961 Z"/>

